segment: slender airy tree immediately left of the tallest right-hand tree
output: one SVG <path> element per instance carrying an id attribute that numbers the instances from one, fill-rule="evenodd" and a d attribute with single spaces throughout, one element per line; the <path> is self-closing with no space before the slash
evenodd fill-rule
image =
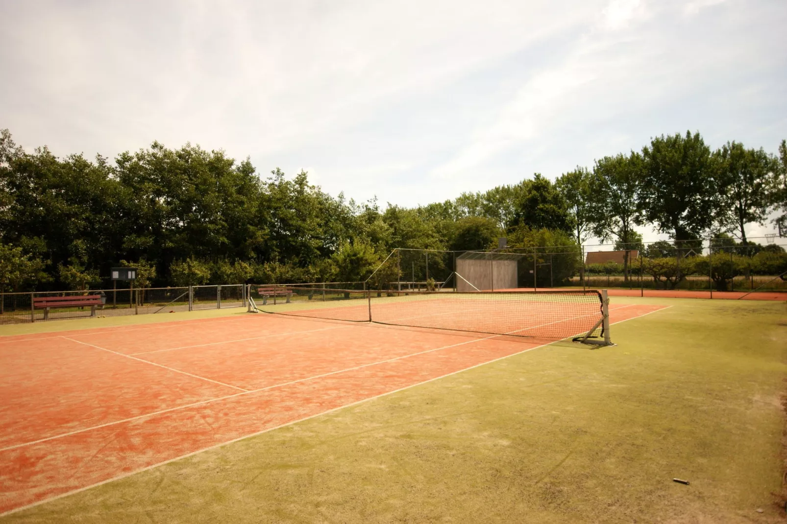
<path id="1" fill-rule="evenodd" d="M 593 234 L 602 242 L 615 238 L 615 244 L 626 250 L 623 256 L 623 279 L 629 279 L 630 244 L 641 242 L 642 237 L 634 231 L 634 224 L 641 221 L 640 190 L 644 164 L 639 153 L 632 151 L 628 157 L 619 154 L 596 161 L 593 174 L 596 177 L 596 197 L 593 214 L 596 223 Z"/>

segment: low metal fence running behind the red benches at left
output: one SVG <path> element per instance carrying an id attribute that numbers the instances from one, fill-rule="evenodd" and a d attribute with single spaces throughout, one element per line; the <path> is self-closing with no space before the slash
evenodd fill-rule
<path id="1" fill-rule="evenodd" d="M 244 284 L 0 293 L 0 324 L 245 308 Z"/>

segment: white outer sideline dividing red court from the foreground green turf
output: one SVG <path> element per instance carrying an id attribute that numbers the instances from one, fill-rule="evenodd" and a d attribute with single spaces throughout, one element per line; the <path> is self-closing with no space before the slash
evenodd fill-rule
<path id="1" fill-rule="evenodd" d="M 639 304 L 632 304 L 632 305 L 639 305 Z M 613 322 L 612 324 L 619 324 L 619 323 L 622 323 L 622 322 L 626 322 L 627 320 L 639 319 L 639 318 L 641 318 L 643 316 L 647 316 L 647 315 L 650 315 L 651 313 L 655 313 L 655 312 L 660 312 L 660 311 L 663 311 L 664 309 L 668 309 L 668 308 L 671 308 L 671 307 L 672 306 L 670 305 L 670 306 L 666 306 L 664 308 L 655 309 L 655 310 L 653 310 L 651 312 L 644 313 L 644 314 L 642 314 L 640 316 L 631 317 L 630 319 L 618 320 L 617 322 Z M 499 337 L 499 336 L 501 336 L 501 335 L 493 335 L 493 336 L 487 337 L 487 338 L 494 338 L 494 337 Z M 487 338 L 483 338 L 483 339 L 479 339 L 479 340 L 486 340 Z M 257 431 L 256 433 L 244 435 L 244 436 L 238 437 L 238 438 L 233 438 L 232 440 L 229 440 L 229 441 L 226 441 L 226 442 L 220 442 L 219 444 L 214 444 L 214 445 L 211 445 L 211 446 L 208 446 L 208 447 L 205 447 L 205 448 L 201 448 L 201 449 L 198 449 L 197 451 L 186 453 L 185 455 L 176 456 L 173 459 L 163 460 L 163 461 L 161 461 L 159 463 L 151 464 L 150 466 L 141 467 L 138 470 L 129 471 L 128 473 L 120 474 L 120 475 L 118 475 L 116 477 L 113 477 L 113 478 L 107 478 L 106 480 L 103 480 L 101 482 L 96 482 L 96 483 L 91 484 L 91 485 L 86 485 L 86 486 L 84 486 L 82 488 L 73 489 L 72 491 L 68 491 L 66 493 L 61 493 L 60 495 L 55 495 L 55 496 L 52 496 L 52 497 L 47 498 L 47 499 L 39 500 L 37 502 L 33 502 L 33 503 L 27 504 L 25 506 L 15 507 L 14 509 L 6 511 L 5 513 L 0 513 L 0 517 L 4 517 L 6 515 L 11 515 L 12 513 L 17 513 L 18 511 L 24 511 L 24 510 L 29 509 L 31 507 L 39 506 L 40 504 L 45 504 L 45 503 L 51 502 L 53 500 L 64 498 L 65 496 L 74 495 L 76 493 L 81 493 L 83 491 L 87 491 L 88 489 L 92 489 L 92 488 L 98 487 L 99 485 L 105 485 L 105 484 L 109 484 L 109 482 L 115 482 L 115 481 L 121 480 L 123 478 L 131 477 L 131 475 L 142 473 L 143 471 L 147 471 L 147 470 L 152 470 L 153 468 L 164 466 L 164 465 L 166 465 L 168 463 L 176 462 L 176 460 L 187 459 L 190 456 L 198 455 L 199 453 L 202 453 L 202 452 L 210 451 L 212 449 L 222 448 L 222 447 L 224 447 L 226 445 L 234 444 L 235 442 L 245 440 L 246 438 L 257 437 L 258 435 L 266 434 L 269 431 L 279 430 L 279 429 L 281 429 L 283 427 L 286 427 L 286 426 L 292 426 L 293 424 L 301 423 L 301 422 L 304 422 L 305 420 L 309 420 L 309 419 L 314 419 L 314 418 L 322 416 L 322 415 L 327 415 L 329 413 L 333 413 L 334 411 L 339 411 L 340 409 L 351 408 L 353 406 L 357 406 L 358 404 L 363 404 L 364 402 L 368 402 L 369 400 L 375 400 L 375 399 L 378 399 L 378 398 L 387 397 L 388 395 L 393 395 L 393 393 L 399 393 L 401 391 L 405 391 L 405 389 L 414 388 L 416 386 L 422 386 L 423 384 L 427 384 L 429 382 L 434 382 L 435 380 L 440 380 L 441 378 L 446 378 L 446 377 L 449 377 L 451 375 L 456 375 L 458 373 L 464 373 L 464 371 L 475 369 L 476 367 L 486 366 L 487 364 L 494 363 L 494 362 L 497 362 L 499 360 L 508 359 L 508 358 L 511 358 L 512 356 L 521 355 L 521 354 L 526 353 L 528 351 L 532 351 L 533 349 L 544 348 L 544 347 L 546 347 L 548 345 L 552 345 L 554 343 L 555 342 L 549 342 L 547 344 L 541 344 L 541 345 L 534 346 L 533 348 L 523 349 L 522 351 L 512 353 L 511 355 L 501 356 L 500 358 L 497 358 L 497 359 L 488 360 L 486 362 L 475 364 L 475 366 L 465 367 L 464 369 L 460 369 L 458 371 L 452 371 L 450 373 L 446 373 L 445 375 L 440 375 L 439 377 L 429 378 L 427 380 L 424 380 L 423 382 L 416 382 L 415 384 L 411 384 L 410 386 L 405 386 L 403 388 L 394 389 L 393 391 L 389 391 L 387 393 L 381 393 L 379 395 L 375 395 L 374 397 L 368 397 L 368 398 L 364 398 L 364 399 L 361 399 L 361 400 L 357 400 L 355 402 L 350 402 L 349 404 L 344 404 L 344 405 L 338 406 L 336 408 L 331 408 L 331 409 L 328 409 L 326 411 L 321 411 L 320 413 L 316 413 L 314 415 L 309 415 L 309 416 L 303 417 L 301 419 L 292 420 L 292 421 L 290 421 L 288 423 L 279 424 L 279 426 L 269 427 L 269 428 L 267 428 L 265 430 Z M 400 357 L 400 358 L 404 358 L 404 357 Z M 246 393 L 236 393 L 235 395 L 232 395 L 232 396 L 233 397 L 237 397 L 237 396 L 243 395 L 243 394 L 246 394 Z M 216 399 L 216 400 L 219 400 L 219 399 Z M 206 400 L 205 402 L 209 402 L 209 401 L 211 401 L 211 400 Z"/>

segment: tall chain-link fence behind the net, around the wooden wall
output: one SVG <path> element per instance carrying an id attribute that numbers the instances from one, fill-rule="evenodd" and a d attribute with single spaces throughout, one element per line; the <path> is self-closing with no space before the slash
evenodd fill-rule
<path id="1" fill-rule="evenodd" d="M 785 293 L 787 243 L 730 245 L 729 238 L 632 245 L 548 245 L 478 251 L 394 249 L 366 280 L 371 290 L 555 288 Z M 709 293 L 708 293 L 709 292 Z M 688 296 L 688 295 L 687 295 Z M 723 296 L 723 293 L 722 295 Z"/>

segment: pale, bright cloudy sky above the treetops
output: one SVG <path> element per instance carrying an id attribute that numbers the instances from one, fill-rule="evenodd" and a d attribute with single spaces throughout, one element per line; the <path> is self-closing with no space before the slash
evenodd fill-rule
<path id="1" fill-rule="evenodd" d="M 0 0 L 0 128 L 57 155 L 192 142 L 426 204 L 686 130 L 775 153 L 785 28 L 784 0 Z"/>

